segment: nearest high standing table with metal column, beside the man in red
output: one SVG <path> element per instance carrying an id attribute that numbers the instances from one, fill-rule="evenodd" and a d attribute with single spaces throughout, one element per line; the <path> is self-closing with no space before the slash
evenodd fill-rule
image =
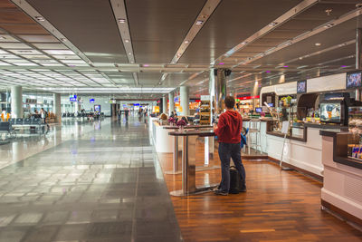
<path id="1" fill-rule="evenodd" d="M 189 196 L 218 186 L 218 184 L 209 184 L 196 188 L 195 185 L 195 141 L 197 137 L 214 138 L 214 131 L 173 131 L 169 135 L 182 138 L 182 189 L 171 191 L 170 195 Z"/>

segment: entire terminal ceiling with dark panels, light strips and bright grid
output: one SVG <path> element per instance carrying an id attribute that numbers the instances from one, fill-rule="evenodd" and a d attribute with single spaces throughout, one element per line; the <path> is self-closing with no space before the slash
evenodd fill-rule
<path id="1" fill-rule="evenodd" d="M 180 85 L 207 93 L 210 68 L 232 69 L 234 93 L 346 72 L 359 3 L 2 0 L 0 89 L 157 99 Z"/>

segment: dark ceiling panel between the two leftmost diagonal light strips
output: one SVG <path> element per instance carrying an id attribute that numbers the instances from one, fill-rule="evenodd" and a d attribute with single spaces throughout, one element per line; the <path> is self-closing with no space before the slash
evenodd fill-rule
<path id="1" fill-rule="evenodd" d="M 28 2 L 86 54 L 90 61 L 128 63 L 110 1 L 28 0 Z"/>

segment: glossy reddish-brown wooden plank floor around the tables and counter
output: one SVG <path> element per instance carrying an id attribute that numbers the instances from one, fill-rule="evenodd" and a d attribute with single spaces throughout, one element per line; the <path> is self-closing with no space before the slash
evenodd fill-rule
<path id="1" fill-rule="evenodd" d="M 164 172 L 171 170 L 172 154 L 158 156 Z M 197 156 L 202 160 L 203 150 Z M 320 209 L 319 181 L 281 171 L 268 160 L 243 164 L 246 193 L 172 197 L 186 241 L 362 241 L 361 231 Z M 170 191 L 181 189 L 181 175 L 164 176 Z M 196 184 L 218 183 L 220 177 L 220 169 L 198 171 Z"/>

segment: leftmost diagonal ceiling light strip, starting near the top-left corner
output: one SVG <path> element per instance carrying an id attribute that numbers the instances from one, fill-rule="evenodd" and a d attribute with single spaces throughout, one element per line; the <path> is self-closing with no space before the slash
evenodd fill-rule
<path id="1" fill-rule="evenodd" d="M 17 5 L 19 8 L 21 8 L 24 13 L 32 17 L 36 23 L 42 25 L 43 28 L 45 28 L 50 34 L 60 40 L 62 44 L 66 45 L 73 53 L 81 57 L 84 62 L 91 64 L 90 59 L 88 59 L 88 57 L 84 53 L 81 53 L 81 51 L 77 47 L 75 47 L 74 44 L 71 44 L 71 42 L 67 40 L 67 38 L 60 31 L 58 31 L 50 22 L 48 22 L 45 18 L 43 18 L 42 21 L 39 21 L 36 16 L 42 15 L 38 11 L 36 11 L 32 5 L 29 5 L 26 0 L 11 1 L 14 3 L 14 5 Z"/>

